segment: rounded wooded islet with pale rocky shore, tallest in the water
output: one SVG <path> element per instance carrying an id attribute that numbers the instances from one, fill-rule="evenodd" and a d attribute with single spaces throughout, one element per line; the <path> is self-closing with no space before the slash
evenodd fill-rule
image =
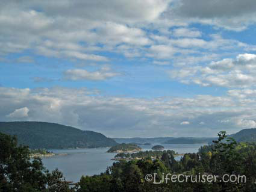
<path id="1" fill-rule="evenodd" d="M 142 150 L 141 147 L 137 146 L 137 144 L 117 144 L 116 146 L 111 147 L 108 149 L 108 153 L 131 153 L 131 152 L 137 152 Z"/>

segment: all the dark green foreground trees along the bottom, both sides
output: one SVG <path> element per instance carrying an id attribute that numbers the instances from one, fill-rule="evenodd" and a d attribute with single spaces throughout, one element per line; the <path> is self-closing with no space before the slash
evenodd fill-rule
<path id="1" fill-rule="evenodd" d="M 140 154 L 142 159 L 114 162 L 104 173 L 82 176 L 80 182 L 70 188 L 61 172 L 49 172 L 40 158 L 30 159 L 30 149 L 17 144 L 16 137 L 0 133 L 0 191 L 256 191 L 256 144 L 237 143 L 234 138 L 228 138 L 226 132 L 220 132 L 218 136 L 213 144 L 201 147 L 197 153 L 184 154 L 180 161 L 175 160 L 176 153 L 172 150 L 161 151 L 161 155 L 154 159 L 149 156 L 150 151 L 139 152 L 137 156 Z M 143 156 L 146 153 L 148 156 Z M 162 175 L 168 173 L 189 175 L 192 179 L 187 182 L 161 182 Z M 145 176 L 148 174 L 155 174 L 158 184 L 147 181 Z M 245 176 L 246 182 L 193 182 L 198 175 L 219 178 L 225 175 Z"/>

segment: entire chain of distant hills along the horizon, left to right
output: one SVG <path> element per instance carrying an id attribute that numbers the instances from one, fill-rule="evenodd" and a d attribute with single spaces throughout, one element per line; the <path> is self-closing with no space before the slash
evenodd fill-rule
<path id="1" fill-rule="evenodd" d="M 107 138 L 94 131 L 82 131 L 72 126 L 46 122 L 0 122 L 0 132 L 17 135 L 20 144 L 31 149 L 67 149 L 84 147 L 111 147 L 118 143 L 152 144 L 204 144 L 211 143 L 212 137 L 155 137 L 155 138 Z M 256 129 L 243 129 L 228 135 L 239 142 L 256 141 Z"/>

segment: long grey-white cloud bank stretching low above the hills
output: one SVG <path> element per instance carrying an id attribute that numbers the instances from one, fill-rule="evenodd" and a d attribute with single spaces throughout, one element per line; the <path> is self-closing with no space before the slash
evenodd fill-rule
<path id="1" fill-rule="evenodd" d="M 198 136 L 195 128 L 204 133 L 200 136 L 205 132 L 214 136 L 223 129 L 234 132 L 252 127 L 252 120 L 256 121 L 252 107 L 256 101 L 231 96 L 143 99 L 102 96 L 99 90 L 87 88 L 0 87 L 0 103 L 0 121 L 56 122 L 111 137 Z M 231 121 L 220 122 L 226 119 Z"/>

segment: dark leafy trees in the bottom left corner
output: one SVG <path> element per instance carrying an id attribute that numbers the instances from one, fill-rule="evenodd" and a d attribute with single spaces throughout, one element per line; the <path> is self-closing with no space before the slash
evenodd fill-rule
<path id="1" fill-rule="evenodd" d="M 17 138 L 0 133 L 0 191 L 73 191 L 58 170 L 49 173 L 40 158 L 30 159 L 27 146 L 17 146 Z"/>

